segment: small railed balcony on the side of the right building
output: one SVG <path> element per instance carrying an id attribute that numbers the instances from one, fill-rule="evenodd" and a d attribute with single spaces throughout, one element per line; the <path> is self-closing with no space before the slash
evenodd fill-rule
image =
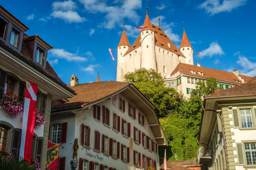
<path id="1" fill-rule="evenodd" d="M 212 162 L 210 148 L 200 147 L 197 150 L 197 160 L 199 164 L 210 164 Z"/>

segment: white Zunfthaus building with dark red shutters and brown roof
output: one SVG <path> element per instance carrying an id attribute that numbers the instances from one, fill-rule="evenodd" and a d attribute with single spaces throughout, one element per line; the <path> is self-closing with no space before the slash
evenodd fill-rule
<path id="1" fill-rule="evenodd" d="M 51 112 L 50 140 L 61 143 L 59 168 L 71 169 L 77 138 L 79 170 L 159 169 L 158 146 L 168 144 L 153 104 L 129 83 L 74 84 L 78 95 L 54 102 Z"/>

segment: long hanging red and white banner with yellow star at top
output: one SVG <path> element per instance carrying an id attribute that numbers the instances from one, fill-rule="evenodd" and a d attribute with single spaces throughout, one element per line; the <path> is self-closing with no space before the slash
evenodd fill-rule
<path id="1" fill-rule="evenodd" d="M 22 134 L 19 155 L 31 164 L 31 148 L 33 142 L 37 84 L 26 82 L 23 110 Z"/>

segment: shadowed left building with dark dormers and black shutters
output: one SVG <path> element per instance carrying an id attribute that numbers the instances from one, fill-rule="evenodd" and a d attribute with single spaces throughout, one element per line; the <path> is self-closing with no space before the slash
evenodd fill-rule
<path id="1" fill-rule="evenodd" d="M 28 27 L 0 6 L 0 146 L 19 155 L 23 111 L 11 119 L 3 107 L 3 95 L 9 93 L 24 101 L 26 81 L 38 84 L 36 108 L 46 116 L 46 123 L 34 129 L 31 158 L 45 169 L 52 100 L 75 95 L 61 81 L 47 62 L 47 51 L 52 48 L 38 35 L 28 36 Z M 2 29 L 3 28 L 3 29 Z"/>

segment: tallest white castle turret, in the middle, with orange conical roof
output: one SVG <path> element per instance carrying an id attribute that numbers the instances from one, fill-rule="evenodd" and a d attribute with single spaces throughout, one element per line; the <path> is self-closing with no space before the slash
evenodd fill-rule
<path id="1" fill-rule="evenodd" d="M 141 68 L 154 69 L 157 71 L 156 52 L 155 52 L 155 31 L 152 28 L 148 14 L 145 17 L 141 30 Z"/>

